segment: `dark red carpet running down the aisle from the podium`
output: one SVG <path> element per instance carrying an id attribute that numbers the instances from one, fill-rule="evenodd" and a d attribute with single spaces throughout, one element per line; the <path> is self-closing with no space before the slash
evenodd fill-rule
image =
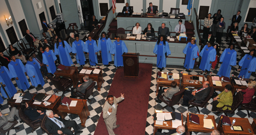
<path id="1" fill-rule="evenodd" d="M 145 135 L 148 100 L 151 83 L 152 64 L 139 63 L 139 77 L 125 78 L 124 68 L 118 67 L 111 84 L 109 95 L 116 98 L 125 93 L 125 100 L 118 105 L 118 135 Z M 94 135 L 108 135 L 106 125 L 100 115 Z"/>

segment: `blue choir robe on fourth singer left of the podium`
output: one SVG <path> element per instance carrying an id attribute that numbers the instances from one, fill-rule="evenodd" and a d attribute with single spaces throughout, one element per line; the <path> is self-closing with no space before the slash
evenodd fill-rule
<path id="1" fill-rule="evenodd" d="M 72 43 L 72 53 L 73 54 L 77 54 L 76 55 L 76 59 L 77 59 L 77 63 L 79 63 L 80 65 L 85 65 L 85 43 L 82 40 L 79 40 L 77 42 L 74 41 Z"/>

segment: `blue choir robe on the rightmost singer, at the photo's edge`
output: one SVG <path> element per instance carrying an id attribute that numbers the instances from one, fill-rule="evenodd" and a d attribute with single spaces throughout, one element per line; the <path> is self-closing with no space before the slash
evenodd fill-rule
<path id="1" fill-rule="evenodd" d="M 238 77 L 245 76 L 246 79 L 250 79 L 252 72 L 256 70 L 256 57 L 246 54 L 240 61 L 241 71 Z M 250 71 L 250 73 L 248 73 Z"/>

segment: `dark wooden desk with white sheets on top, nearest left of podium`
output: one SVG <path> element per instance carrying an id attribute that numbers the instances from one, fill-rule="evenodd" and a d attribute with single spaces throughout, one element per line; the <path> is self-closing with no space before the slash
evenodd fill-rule
<path id="1" fill-rule="evenodd" d="M 102 76 L 102 69 L 101 68 L 83 67 L 83 69 L 80 71 L 80 73 L 78 75 L 81 83 L 84 82 L 83 77 L 85 75 L 89 76 L 90 79 L 97 82 L 97 87 L 98 87 L 97 90 L 100 91 L 100 87 L 101 87 L 102 83 L 104 83 L 103 76 Z"/>

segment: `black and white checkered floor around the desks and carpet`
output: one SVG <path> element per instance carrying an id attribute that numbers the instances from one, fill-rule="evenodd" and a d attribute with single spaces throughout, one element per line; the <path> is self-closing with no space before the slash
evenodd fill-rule
<path id="1" fill-rule="evenodd" d="M 224 38 L 222 38 L 224 40 Z M 223 50 L 228 47 L 228 45 L 226 44 L 225 41 L 222 41 L 221 43 L 221 51 L 220 53 L 223 52 Z M 236 51 L 238 51 L 238 49 L 235 49 Z M 238 60 L 240 59 L 240 55 L 241 53 L 238 51 L 237 52 L 238 55 Z M 73 61 L 75 62 L 75 58 L 74 56 L 72 56 Z M 102 111 L 102 107 L 103 104 L 106 100 L 106 97 L 108 95 L 111 83 L 114 79 L 115 76 L 115 72 L 117 70 L 117 68 L 115 66 L 113 66 L 113 64 L 109 67 L 105 67 L 102 64 L 98 64 L 100 68 L 103 69 L 103 79 L 104 79 L 104 83 L 102 84 L 101 87 L 101 91 L 97 91 L 96 88 L 97 86 L 95 86 L 94 90 L 93 90 L 93 95 L 89 97 L 89 99 L 91 99 L 90 102 L 87 101 L 87 106 L 90 112 L 90 116 L 88 116 L 86 123 L 85 123 L 85 128 L 81 127 L 81 121 L 80 118 L 78 117 L 78 115 L 75 114 L 69 114 L 66 119 L 72 119 L 75 120 L 79 126 L 81 127 L 81 129 L 84 131 L 81 135 L 94 135 L 94 131 L 96 129 L 101 111 Z M 80 66 L 79 64 L 77 64 L 76 66 Z M 85 66 L 89 66 L 88 64 L 85 64 Z M 95 67 L 95 66 L 92 66 Z M 235 76 L 237 76 L 239 73 L 237 71 L 235 71 L 238 68 L 237 66 L 232 67 L 231 69 L 231 75 L 234 74 Z M 153 64 L 153 68 L 152 68 L 152 78 L 151 78 L 151 87 L 150 87 L 150 95 L 149 95 L 149 103 L 148 103 L 148 114 L 147 114 L 147 123 L 145 125 L 145 135 L 153 135 L 153 120 L 152 120 L 152 115 L 154 114 L 154 109 L 162 109 L 162 107 L 166 106 L 164 103 L 158 104 L 155 102 L 156 99 L 156 65 Z M 168 65 L 167 68 L 165 70 L 163 70 L 164 72 L 171 72 L 171 73 L 179 73 L 180 77 L 181 77 L 181 72 L 183 71 L 183 67 L 182 66 L 175 66 L 175 65 Z M 201 70 L 199 70 L 198 68 L 193 69 L 189 74 L 192 75 L 199 75 L 199 73 L 201 72 Z M 186 73 L 186 71 L 184 72 Z M 217 72 L 213 72 L 213 75 L 216 75 Z M 255 80 L 256 79 L 256 74 L 252 73 L 251 79 Z M 30 80 L 29 80 L 30 81 Z M 17 90 L 17 84 L 15 81 L 13 81 L 15 87 Z M 31 82 L 30 82 L 31 84 Z M 54 85 L 52 85 L 52 88 L 50 87 L 52 83 L 49 80 L 45 80 L 45 84 L 43 85 L 43 87 L 36 87 L 36 88 L 32 88 L 29 89 L 29 91 L 31 93 L 46 93 L 46 94 L 52 94 L 52 90 L 54 92 L 56 92 L 56 88 L 54 87 Z M 218 92 L 218 91 L 217 91 Z M 58 94 L 56 93 L 56 95 L 61 95 L 62 92 L 59 92 Z M 69 97 L 70 96 L 70 92 L 66 92 L 65 96 Z M 10 106 L 7 105 L 7 100 L 5 99 L 2 107 L 0 108 L 0 111 L 4 114 L 10 111 Z M 213 100 L 211 99 L 209 101 L 209 105 L 207 106 L 207 108 L 199 108 L 201 111 L 201 114 L 208 114 L 208 115 L 214 115 L 215 116 L 215 121 L 216 124 L 219 121 L 218 116 L 221 115 L 221 113 L 217 116 L 214 113 L 212 113 L 210 110 L 212 109 L 212 105 L 211 103 L 213 102 Z M 176 112 L 180 112 L 183 114 L 183 124 L 185 124 L 185 115 L 188 112 L 186 107 L 182 107 L 181 105 L 175 105 L 173 106 L 175 108 Z M 164 111 L 172 111 L 171 108 L 165 108 Z M 193 113 L 198 113 L 196 108 L 191 108 L 189 110 L 190 112 Z M 119 112 L 121 113 L 121 112 Z M 247 112 L 246 110 L 242 110 L 242 111 L 235 111 L 234 114 L 228 114 L 228 116 L 232 116 L 232 117 L 242 117 L 242 118 L 248 118 Z M 249 118 L 250 123 L 253 122 L 253 118 L 256 118 L 256 113 L 251 112 L 251 118 Z M 117 121 L 118 123 L 118 121 Z M 18 127 L 20 127 L 19 130 L 11 130 L 10 131 L 10 135 L 46 135 L 45 133 L 43 134 L 42 130 L 40 128 L 38 128 L 34 133 L 31 133 L 31 128 L 25 124 L 25 123 L 18 123 L 17 124 Z M 125 134 L 124 134 L 125 135 Z M 192 135 L 198 135 L 198 133 L 192 132 Z"/>

